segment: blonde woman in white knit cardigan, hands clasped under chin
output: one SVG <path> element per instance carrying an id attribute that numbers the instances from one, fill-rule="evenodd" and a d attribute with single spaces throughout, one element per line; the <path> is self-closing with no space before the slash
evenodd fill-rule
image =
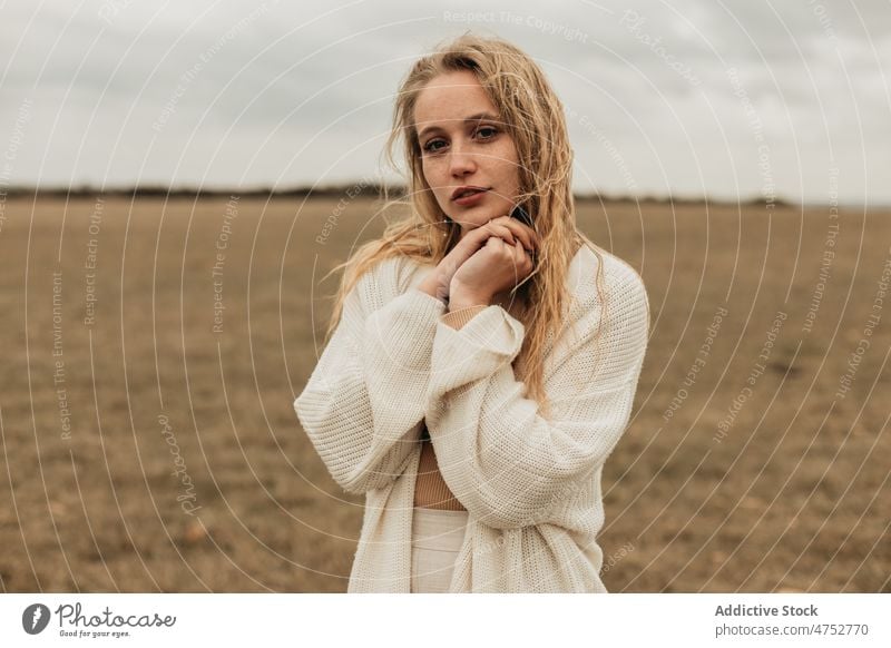
<path id="1" fill-rule="evenodd" d="M 420 59 L 393 121 L 411 217 L 343 264 L 294 403 L 365 494 L 347 591 L 606 591 L 600 473 L 646 348 L 643 283 L 576 229 L 562 106 L 512 45 Z"/>

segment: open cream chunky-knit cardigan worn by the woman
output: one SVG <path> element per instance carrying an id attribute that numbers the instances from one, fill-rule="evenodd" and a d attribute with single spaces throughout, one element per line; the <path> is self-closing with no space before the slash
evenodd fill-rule
<path id="1" fill-rule="evenodd" d="M 547 419 L 515 375 L 523 325 L 502 307 L 449 326 L 446 305 L 417 289 L 432 267 L 409 258 L 359 279 L 294 402 L 334 480 L 365 493 L 347 592 L 410 591 L 424 419 L 469 513 L 451 592 L 606 591 L 600 473 L 628 423 L 649 307 L 637 273 L 600 255 L 605 305 L 594 252 L 582 245 L 570 265 L 567 327 L 546 346 Z"/>

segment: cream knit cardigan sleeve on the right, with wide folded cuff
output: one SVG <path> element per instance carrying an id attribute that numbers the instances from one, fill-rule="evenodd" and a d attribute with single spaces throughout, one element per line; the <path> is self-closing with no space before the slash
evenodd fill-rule
<path id="1" fill-rule="evenodd" d="M 625 431 L 649 310 L 633 271 L 609 294 L 603 322 L 600 307 L 591 308 L 578 322 L 580 335 L 558 341 L 567 352 L 546 373 L 548 418 L 511 367 L 520 322 L 490 306 L 460 330 L 438 326 L 427 425 L 446 483 L 483 524 L 555 522 Z"/>

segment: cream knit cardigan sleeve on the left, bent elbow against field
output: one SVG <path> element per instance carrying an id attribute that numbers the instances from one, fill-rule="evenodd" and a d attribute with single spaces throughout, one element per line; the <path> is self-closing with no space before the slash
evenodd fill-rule
<path id="1" fill-rule="evenodd" d="M 395 272 L 388 259 L 359 279 L 294 401 L 313 446 L 347 492 L 393 481 L 420 439 L 433 336 L 446 306 L 414 288 L 396 294 Z"/>

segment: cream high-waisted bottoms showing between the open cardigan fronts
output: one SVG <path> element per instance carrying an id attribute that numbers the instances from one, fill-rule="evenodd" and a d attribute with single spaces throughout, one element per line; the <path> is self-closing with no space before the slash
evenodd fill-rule
<path id="1" fill-rule="evenodd" d="M 467 530 L 467 511 L 414 507 L 411 523 L 411 592 L 449 591 Z"/>

